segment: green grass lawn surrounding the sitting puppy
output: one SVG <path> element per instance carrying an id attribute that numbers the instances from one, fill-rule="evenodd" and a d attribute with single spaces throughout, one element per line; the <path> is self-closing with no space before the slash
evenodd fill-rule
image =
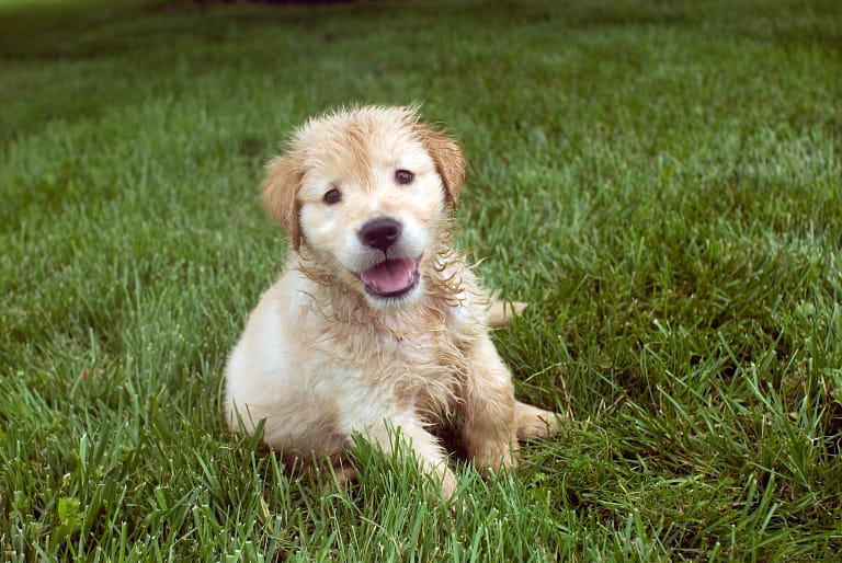
<path id="1" fill-rule="evenodd" d="M 20 4 L 20 2 L 19 2 Z M 842 13 L 808 2 L 69 2 L 0 15 L 0 560 L 776 561 L 842 551 Z M 569 415 L 456 507 L 294 479 L 221 370 L 289 128 L 423 102 L 494 334 Z"/>

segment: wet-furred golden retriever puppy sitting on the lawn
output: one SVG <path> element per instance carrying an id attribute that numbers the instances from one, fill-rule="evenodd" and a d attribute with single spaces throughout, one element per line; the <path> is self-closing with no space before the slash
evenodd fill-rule
<path id="1" fill-rule="evenodd" d="M 436 428 L 482 471 L 556 429 L 555 414 L 515 401 L 489 296 L 452 246 L 464 175 L 459 146 L 414 108 L 339 111 L 296 131 L 263 184 L 291 248 L 228 360 L 232 428 L 265 421 L 287 460 L 327 459 L 340 475 L 353 433 L 391 452 L 399 429 L 446 497 Z M 496 305 L 491 320 L 516 312 Z"/>

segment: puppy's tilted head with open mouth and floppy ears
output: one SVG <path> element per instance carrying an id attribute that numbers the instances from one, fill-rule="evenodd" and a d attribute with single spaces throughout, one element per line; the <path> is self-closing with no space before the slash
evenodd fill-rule
<path id="1" fill-rule="evenodd" d="M 416 110 L 365 106 L 310 119 L 268 170 L 263 202 L 293 248 L 387 308 L 420 294 L 465 159 Z"/>

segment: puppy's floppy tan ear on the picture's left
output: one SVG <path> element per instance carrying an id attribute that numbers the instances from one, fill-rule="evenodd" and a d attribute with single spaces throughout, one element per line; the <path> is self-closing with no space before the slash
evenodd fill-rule
<path id="1" fill-rule="evenodd" d="M 270 215 L 289 233 L 293 248 L 301 245 L 301 228 L 298 225 L 298 189 L 304 173 L 298 163 L 289 156 L 275 157 L 266 164 L 266 179 L 263 181 L 263 205 Z"/>

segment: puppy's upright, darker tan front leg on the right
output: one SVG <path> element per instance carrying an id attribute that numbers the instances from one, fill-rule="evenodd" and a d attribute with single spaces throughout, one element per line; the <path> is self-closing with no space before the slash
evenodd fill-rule
<path id="1" fill-rule="evenodd" d="M 511 374 L 488 335 L 473 343 L 467 356 L 460 409 L 462 440 L 468 458 L 482 472 L 516 466 L 519 445 Z"/>

